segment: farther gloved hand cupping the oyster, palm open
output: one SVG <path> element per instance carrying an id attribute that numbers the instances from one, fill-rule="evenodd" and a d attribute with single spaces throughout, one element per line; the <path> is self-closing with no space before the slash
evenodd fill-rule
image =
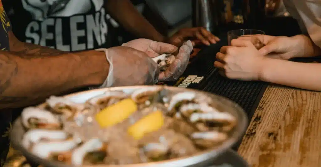
<path id="1" fill-rule="evenodd" d="M 161 54 L 175 54 L 177 47 L 171 44 L 156 42 L 150 39 L 135 39 L 129 41 L 122 46 L 132 47 L 139 51 L 145 52 L 150 58 L 157 57 Z M 167 68 L 159 74 L 159 81 L 175 81 L 183 74 L 189 62 L 189 55 L 193 50 L 191 41 L 185 42 L 179 49 L 175 60 Z"/>

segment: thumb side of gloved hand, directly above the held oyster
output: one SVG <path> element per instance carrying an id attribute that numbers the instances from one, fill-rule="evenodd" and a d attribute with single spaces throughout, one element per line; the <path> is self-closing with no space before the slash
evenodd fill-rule
<path id="1" fill-rule="evenodd" d="M 150 58 L 157 57 L 160 54 L 164 53 L 171 54 L 177 51 L 177 47 L 174 45 L 144 38 L 129 41 L 122 44 L 122 46 L 131 47 L 136 50 L 145 52 Z"/>

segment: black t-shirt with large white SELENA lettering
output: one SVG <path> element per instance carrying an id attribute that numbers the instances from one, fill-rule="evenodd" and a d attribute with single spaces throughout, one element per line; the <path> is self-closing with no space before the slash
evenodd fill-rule
<path id="1" fill-rule="evenodd" d="M 111 46 L 104 1 L 4 0 L 4 6 L 22 42 L 76 52 Z"/>

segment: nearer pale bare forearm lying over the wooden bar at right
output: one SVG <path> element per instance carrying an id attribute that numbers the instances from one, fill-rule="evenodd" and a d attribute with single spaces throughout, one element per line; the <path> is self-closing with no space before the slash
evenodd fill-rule
<path id="1" fill-rule="evenodd" d="M 321 64 L 265 59 L 261 80 L 301 89 L 321 91 Z"/>

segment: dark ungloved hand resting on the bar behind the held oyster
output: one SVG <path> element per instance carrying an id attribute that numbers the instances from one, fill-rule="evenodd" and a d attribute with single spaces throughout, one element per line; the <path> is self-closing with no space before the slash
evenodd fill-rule
<path id="1" fill-rule="evenodd" d="M 205 45 L 216 44 L 216 42 L 220 41 L 220 38 L 214 36 L 203 27 L 182 28 L 169 37 L 168 43 L 179 47 L 187 40 L 191 40 L 193 46 L 195 46 L 198 43 Z"/>

